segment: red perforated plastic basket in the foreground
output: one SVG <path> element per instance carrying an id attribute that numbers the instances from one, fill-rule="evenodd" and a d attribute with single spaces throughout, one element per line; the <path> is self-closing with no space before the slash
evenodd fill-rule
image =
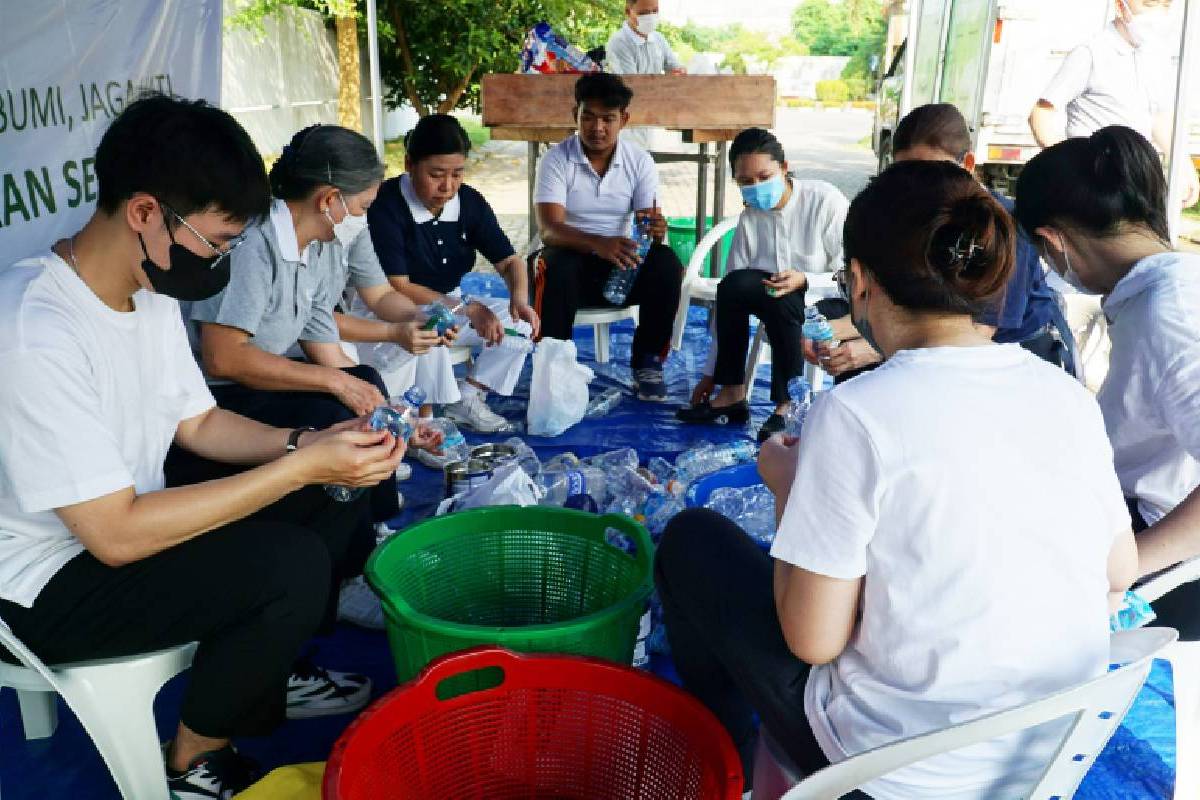
<path id="1" fill-rule="evenodd" d="M 728 734 L 653 675 L 578 656 L 444 656 L 367 709 L 325 800 L 737 800 Z"/>

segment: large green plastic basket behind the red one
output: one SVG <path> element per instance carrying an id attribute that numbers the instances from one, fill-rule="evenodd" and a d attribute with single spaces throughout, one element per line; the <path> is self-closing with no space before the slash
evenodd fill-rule
<path id="1" fill-rule="evenodd" d="M 380 545 L 365 572 L 403 682 L 481 644 L 628 664 L 653 561 L 649 534 L 629 517 L 500 506 L 414 525 Z"/>

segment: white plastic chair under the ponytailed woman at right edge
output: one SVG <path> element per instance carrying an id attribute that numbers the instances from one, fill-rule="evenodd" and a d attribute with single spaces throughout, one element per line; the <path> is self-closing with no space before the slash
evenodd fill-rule
<path id="1" fill-rule="evenodd" d="M 1200 579 L 1200 558 L 1166 570 L 1135 590 L 1153 603 L 1166 593 Z M 1175 684 L 1175 798 L 1200 798 L 1200 642 L 1174 642 L 1162 656 L 1171 662 Z"/>

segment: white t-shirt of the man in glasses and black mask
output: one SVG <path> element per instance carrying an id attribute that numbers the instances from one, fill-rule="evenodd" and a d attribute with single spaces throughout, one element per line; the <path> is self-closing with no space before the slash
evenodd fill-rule
<path id="1" fill-rule="evenodd" d="M 0 270 L 0 597 L 29 607 L 84 547 L 54 509 L 163 488 L 180 421 L 214 407 L 179 305 L 106 306 L 58 255 Z"/>

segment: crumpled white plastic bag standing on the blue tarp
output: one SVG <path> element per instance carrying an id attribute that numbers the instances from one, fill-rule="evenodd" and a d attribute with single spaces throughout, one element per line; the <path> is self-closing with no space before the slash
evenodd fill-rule
<path id="1" fill-rule="evenodd" d="M 595 374 L 576 360 L 575 342 L 545 338 L 533 351 L 529 434 L 557 437 L 583 419 Z"/>

